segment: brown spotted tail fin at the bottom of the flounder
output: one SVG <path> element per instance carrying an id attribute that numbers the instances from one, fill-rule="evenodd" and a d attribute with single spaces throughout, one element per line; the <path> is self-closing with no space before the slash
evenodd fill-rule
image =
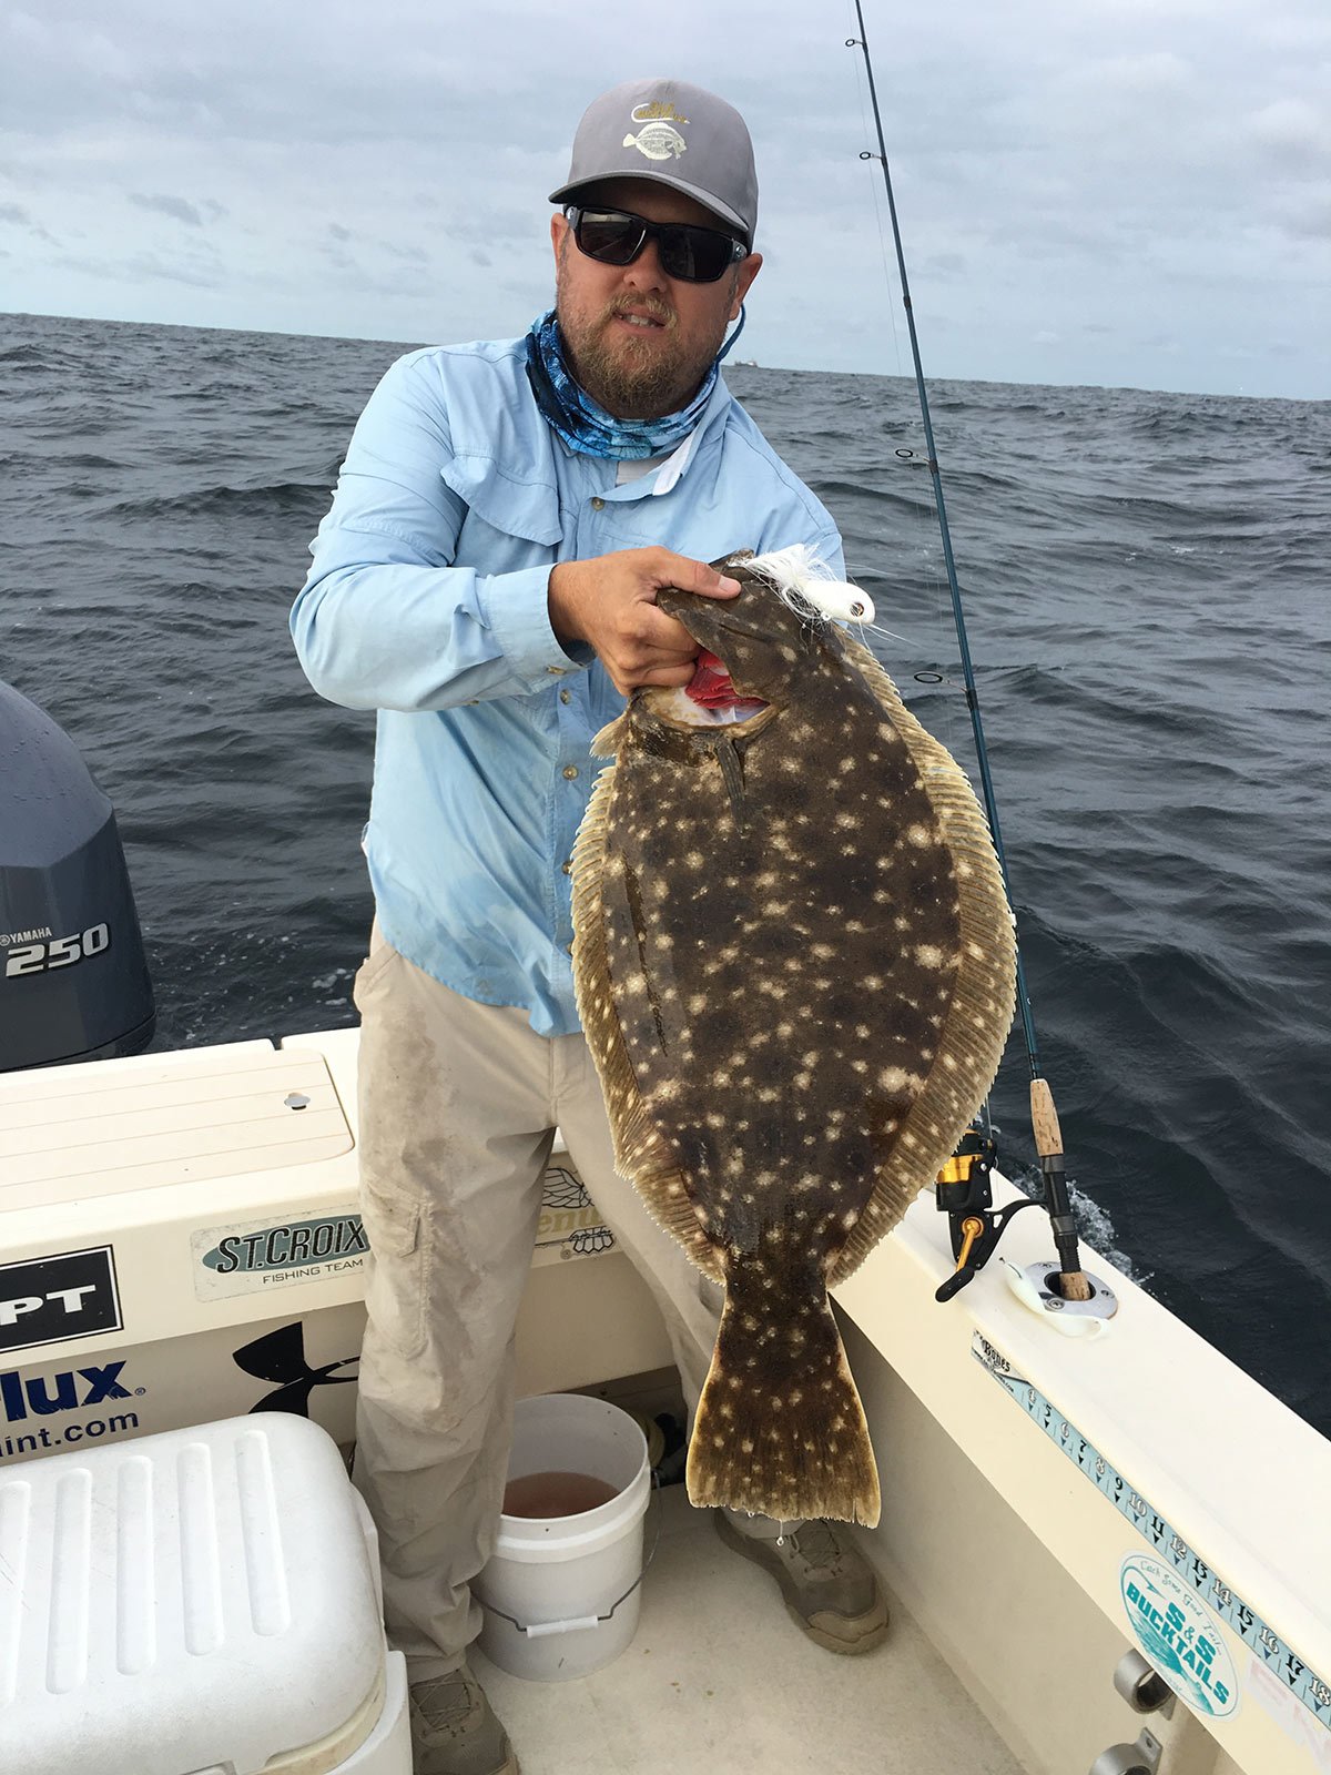
<path id="1" fill-rule="evenodd" d="M 728 1264 L 726 1308 L 689 1443 L 689 1502 L 779 1521 L 878 1521 L 878 1468 L 827 1290 L 792 1308 L 754 1264 Z M 765 1299 L 781 1298 L 774 1322 Z"/>

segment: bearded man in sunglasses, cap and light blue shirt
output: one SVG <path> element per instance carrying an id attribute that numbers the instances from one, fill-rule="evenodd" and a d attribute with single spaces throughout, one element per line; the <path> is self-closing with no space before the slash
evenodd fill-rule
<path id="1" fill-rule="evenodd" d="M 366 834 L 376 928 L 357 976 L 373 1264 L 357 1482 L 406 1653 L 417 1775 L 515 1775 L 465 1663 L 513 1409 L 513 1324 L 555 1124 L 646 1276 L 692 1413 L 719 1290 L 616 1175 L 570 966 L 570 857 L 593 735 L 697 644 L 664 586 L 809 543 L 827 511 L 717 375 L 761 266 L 749 133 L 722 99 L 637 80 L 596 99 L 550 224 L 555 311 L 525 339 L 415 351 L 343 467 L 291 627 L 311 683 L 376 708 Z M 719 1514 L 820 1644 L 886 1633 L 825 1525 Z"/>

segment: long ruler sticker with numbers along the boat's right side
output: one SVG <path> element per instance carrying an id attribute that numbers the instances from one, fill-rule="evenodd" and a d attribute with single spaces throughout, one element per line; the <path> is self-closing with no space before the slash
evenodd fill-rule
<path id="1" fill-rule="evenodd" d="M 980 1331 L 971 1340 L 971 1353 L 976 1361 L 988 1369 L 1004 1393 L 1015 1399 L 1068 1461 L 1090 1479 L 1097 1491 L 1104 1493 L 1118 1514 L 1150 1542 L 1161 1566 L 1168 1566 L 1194 1598 L 1214 1610 L 1262 1661 L 1264 1668 L 1278 1677 L 1315 1720 L 1331 1727 L 1331 1684 L 1311 1670 L 1200 1553 L 1193 1551 L 1159 1511 L 1081 1434 L 1077 1425 L 1065 1418 L 1038 1386 L 1031 1386 L 1024 1376 L 1017 1374 L 1003 1351 L 996 1349 Z M 1162 1668 L 1161 1676 L 1168 1681 L 1170 1672 Z M 1184 1695 L 1184 1699 L 1191 1700 L 1191 1695 Z"/>

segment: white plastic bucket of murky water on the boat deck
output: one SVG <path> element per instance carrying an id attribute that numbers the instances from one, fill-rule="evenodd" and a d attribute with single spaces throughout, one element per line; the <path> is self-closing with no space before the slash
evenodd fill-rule
<path id="1" fill-rule="evenodd" d="M 500 1516 L 476 1594 L 486 1658 L 513 1676 L 566 1683 L 618 1658 L 637 1628 L 651 1495 L 646 1438 L 603 1399 L 520 1399 L 508 1477 L 547 1471 L 587 1473 L 616 1495 L 577 1516 Z"/>

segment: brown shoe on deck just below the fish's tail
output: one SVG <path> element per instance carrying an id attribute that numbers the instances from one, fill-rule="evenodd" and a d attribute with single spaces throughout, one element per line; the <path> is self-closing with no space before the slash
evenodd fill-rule
<path id="1" fill-rule="evenodd" d="M 887 1601 L 864 1555 L 831 1523 L 800 1523 L 781 1541 L 745 1535 L 715 1511 L 726 1546 L 781 1585 L 795 1626 L 829 1653 L 868 1653 L 887 1637 Z"/>

